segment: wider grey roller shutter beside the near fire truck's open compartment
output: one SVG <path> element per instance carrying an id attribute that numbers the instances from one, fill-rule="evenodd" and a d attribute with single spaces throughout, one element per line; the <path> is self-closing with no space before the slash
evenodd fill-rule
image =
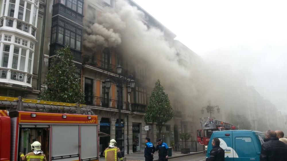
<path id="1" fill-rule="evenodd" d="M 52 157 L 79 154 L 79 125 L 52 125 Z"/>

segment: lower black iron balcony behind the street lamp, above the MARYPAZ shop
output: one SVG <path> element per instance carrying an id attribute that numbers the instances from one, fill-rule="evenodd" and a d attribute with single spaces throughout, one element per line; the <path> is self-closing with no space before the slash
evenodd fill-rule
<path id="1" fill-rule="evenodd" d="M 103 108 L 110 108 L 110 109 L 119 109 L 118 101 L 102 98 L 102 97 L 96 97 L 96 96 L 85 96 L 86 105 L 88 106 L 97 106 L 97 107 L 103 107 Z M 131 107 L 129 102 L 123 102 L 123 108 L 121 110 L 131 111 Z"/>

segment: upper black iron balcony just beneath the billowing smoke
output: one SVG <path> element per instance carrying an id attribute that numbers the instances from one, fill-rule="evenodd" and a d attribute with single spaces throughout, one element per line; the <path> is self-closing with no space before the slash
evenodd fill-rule
<path id="1" fill-rule="evenodd" d="M 83 61 L 83 65 L 89 65 L 92 67 L 96 67 L 96 68 L 103 69 L 105 71 L 117 74 L 117 68 L 116 68 L 117 66 L 116 65 L 104 62 L 102 60 L 96 59 L 96 58 L 88 56 L 88 55 L 83 55 L 82 61 Z M 128 75 L 127 70 L 122 69 L 122 75 Z"/>

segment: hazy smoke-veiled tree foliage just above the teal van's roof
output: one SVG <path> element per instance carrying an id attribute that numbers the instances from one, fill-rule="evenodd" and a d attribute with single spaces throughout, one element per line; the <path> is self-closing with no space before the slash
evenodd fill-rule
<path id="1" fill-rule="evenodd" d="M 236 126 L 236 130 L 251 130 L 251 122 L 244 115 L 229 112 L 226 119 L 228 123 Z"/>

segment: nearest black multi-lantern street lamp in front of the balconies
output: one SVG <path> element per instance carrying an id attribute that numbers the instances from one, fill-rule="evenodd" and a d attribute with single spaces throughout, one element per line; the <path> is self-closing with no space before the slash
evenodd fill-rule
<path id="1" fill-rule="evenodd" d="M 123 106 L 122 103 L 122 98 L 123 98 L 123 84 L 127 82 L 127 92 L 130 95 L 131 90 L 135 88 L 135 81 L 133 80 L 133 75 L 129 76 L 121 76 L 120 74 L 122 73 L 123 67 L 121 65 L 118 65 L 117 67 L 117 73 L 118 75 L 113 76 L 113 75 L 108 75 L 105 83 L 106 83 L 106 88 L 107 92 L 109 92 L 111 83 L 116 84 L 118 90 L 119 90 L 119 99 L 117 101 L 117 107 L 119 108 L 119 122 L 118 122 L 118 140 L 122 138 L 122 123 L 121 123 L 121 109 Z M 123 144 L 124 145 L 124 144 Z"/>

